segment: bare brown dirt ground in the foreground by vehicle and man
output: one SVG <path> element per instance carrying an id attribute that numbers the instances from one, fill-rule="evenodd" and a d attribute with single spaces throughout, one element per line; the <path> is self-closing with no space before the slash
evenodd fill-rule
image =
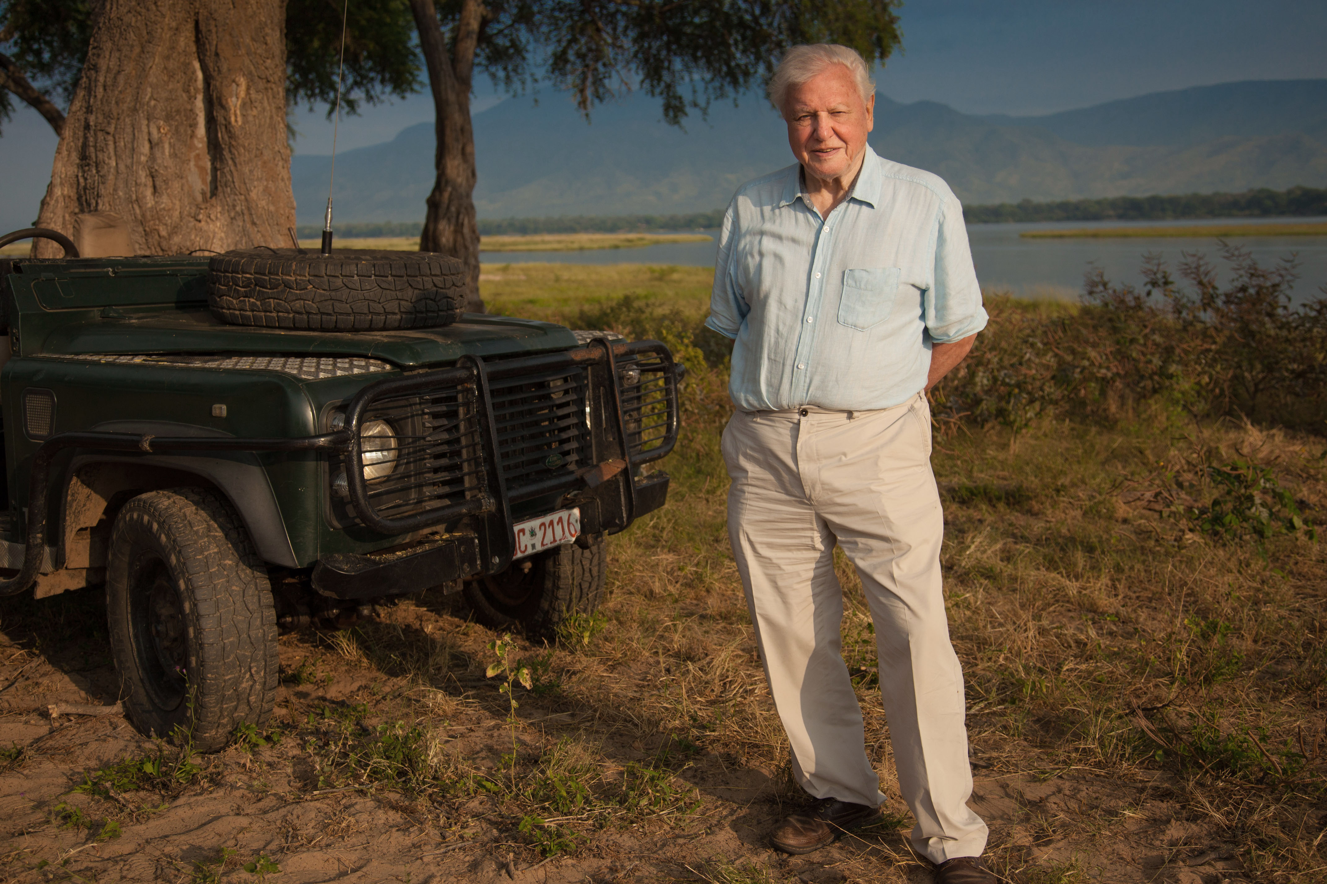
<path id="1" fill-rule="evenodd" d="M 346 632 L 284 635 L 288 677 L 272 722 L 281 732 L 276 745 L 195 757 L 200 771 L 161 790 L 110 790 L 104 797 L 72 791 L 89 774 L 123 759 L 150 758 L 161 747 L 119 714 L 49 712 L 57 704 L 115 701 L 94 595 L 8 606 L 0 631 L 0 745 L 16 749 L 5 755 L 9 770 L 0 775 L 5 844 L 0 875 L 7 881 L 932 879 L 928 864 L 908 850 L 900 828 L 908 826 L 908 812 L 897 799 L 885 806 L 885 823 L 831 848 L 805 857 L 772 852 L 766 832 L 796 798 L 783 771 L 733 753 L 693 751 L 670 769 L 681 803 L 673 802 L 671 810 L 667 802 L 620 810 L 577 835 L 569 855 L 551 857 L 515 830 L 520 808 L 504 807 L 510 802 L 500 794 L 421 797 L 362 777 L 360 783 L 329 785 L 353 777 L 328 766 L 311 746 L 325 733 L 311 724 L 325 717 L 324 709 L 349 709 L 353 728 L 364 732 L 385 721 L 415 722 L 434 741 L 431 750 L 451 758 L 484 759 L 510 749 L 500 679 L 483 673 L 484 645 L 494 636 L 467 622 L 456 596 L 423 596 L 380 610 L 360 631 L 361 645 L 365 635 L 380 636 L 377 655 L 349 647 Z M 389 641 L 393 634 L 395 645 Z M 750 660 L 752 648 L 742 645 L 743 635 L 750 641 L 746 630 L 734 630 L 733 649 Z M 439 687 L 421 689 L 417 679 L 393 675 L 411 637 L 434 645 L 434 652 L 443 648 L 446 676 Z M 640 709 L 649 705 L 652 692 L 666 693 L 674 684 L 667 672 L 652 672 L 640 660 L 616 665 L 593 656 L 591 649 L 568 661 L 568 669 L 580 672 L 565 677 L 613 683 L 617 691 L 640 694 Z M 768 705 L 758 680 L 740 689 Z M 633 720 L 629 708 L 593 708 L 579 702 L 575 691 L 544 697 L 518 692 L 516 734 L 520 751 L 529 757 L 567 738 L 589 737 L 610 779 L 657 755 L 666 740 L 650 733 L 646 716 Z M 880 717 L 869 704 L 868 717 Z M 1182 786 L 1172 775 L 1120 779 L 1091 769 L 1042 767 L 1040 753 L 1030 746 L 1011 753 L 1010 740 L 985 729 L 979 712 L 971 733 L 973 806 L 990 822 L 998 867 L 1011 880 L 1241 879 L 1238 861 L 1212 827 L 1176 819 Z M 888 791 L 893 778 L 888 742 L 877 742 L 873 753 Z M 1011 755 L 1023 761 L 1011 765 Z M 165 757 L 174 758 L 169 749 Z M 1074 820 L 1070 834 L 1060 832 L 1066 819 Z"/>

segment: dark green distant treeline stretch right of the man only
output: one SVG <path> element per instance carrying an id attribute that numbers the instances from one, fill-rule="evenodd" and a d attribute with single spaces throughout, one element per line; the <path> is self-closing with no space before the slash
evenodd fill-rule
<path id="1" fill-rule="evenodd" d="M 1277 217 L 1327 215 L 1327 190 L 1291 187 L 1289 191 L 1243 193 L 1184 193 L 1181 196 L 1108 196 L 1059 203 L 1001 203 L 967 205 L 969 224 L 999 221 L 1152 221 L 1197 217 Z"/>

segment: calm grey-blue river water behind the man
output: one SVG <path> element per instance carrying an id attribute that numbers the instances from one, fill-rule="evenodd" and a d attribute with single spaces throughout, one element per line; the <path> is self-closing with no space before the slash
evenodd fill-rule
<path id="1" fill-rule="evenodd" d="M 1202 253 L 1221 266 L 1221 247 L 1214 237 L 1169 239 L 1137 237 L 1119 240 L 1064 239 L 1030 240 L 1023 231 L 1079 229 L 1095 227 L 1174 227 L 1213 224 L 1315 223 L 1327 217 L 1292 219 L 1210 219 L 1201 221 L 1047 221 L 1038 224 L 969 224 L 977 277 L 987 290 L 1007 290 L 1024 298 L 1074 298 L 1083 290 L 1083 274 L 1095 262 L 1108 278 L 1140 284 L 1139 266 L 1145 253 L 1157 253 L 1172 270 L 1178 269 L 1185 253 Z M 714 231 L 706 231 L 714 235 Z M 1262 264 L 1295 256 L 1299 261 L 1296 301 L 1322 296 L 1327 285 L 1327 236 L 1247 236 L 1230 240 L 1231 245 L 1249 249 Z M 682 264 L 714 266 L 715 243 L 679 243 L 648 245 L 638 249 L 598 249 L 587 252 L 486 252 L 484 264 L 520 264 L 548 261 L 555 264 Z"/>

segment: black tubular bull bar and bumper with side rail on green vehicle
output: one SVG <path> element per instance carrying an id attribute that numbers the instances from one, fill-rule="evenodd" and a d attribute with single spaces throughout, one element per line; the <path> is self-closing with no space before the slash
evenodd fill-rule
<path id="1" fill-rule="evenodd" d="M 642 477 L 640 467 L 677 444 L 681 374 L 662 343 L 600 338 L 536 357 L 466 357 L 453 368 L 372 383 L 346 404 L 342 425 L 318 436 L 58 433 L 33 457 L 24 563 L 0 582 L 0 595 L 28 588 L 45 559 L 50 465 L 66 448 L 326 453 L 345 472 L 356 522 L 385 542 L 423 537 L 406 551 L 324 557 L 313 570 L 324 595 L 364 599 L 496 574 L 512 561 L 514 505 L 561 500 L 583 508 L 587 533 L 613 533 L 664 504 L 667 477 Z M 381 419 L 410 432 L 401 436 L 397 480 L 372 482 L 360 431 Z"/>

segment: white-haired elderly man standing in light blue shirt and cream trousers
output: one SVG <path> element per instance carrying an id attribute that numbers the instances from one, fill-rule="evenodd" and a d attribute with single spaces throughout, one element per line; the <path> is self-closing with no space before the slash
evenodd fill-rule
<path id="1" fill-rule="evenodd" d="M 798 163 L 738 190 L 709 325 L 735 339 L 723 432 L 729 534 L 798 782 L 819 799 L 771 843 L 808 854 L 878 818 L 880 779 L 840 648 L 837 542 L 871 606 L 912 842 L 943 884 L 975 859 L 963 675 L 941 588 L 925 391 L 986 325 L 963 211 L 867 144 L 874 83 L 847 46 L 795 46 L 770 81 Z"/>

